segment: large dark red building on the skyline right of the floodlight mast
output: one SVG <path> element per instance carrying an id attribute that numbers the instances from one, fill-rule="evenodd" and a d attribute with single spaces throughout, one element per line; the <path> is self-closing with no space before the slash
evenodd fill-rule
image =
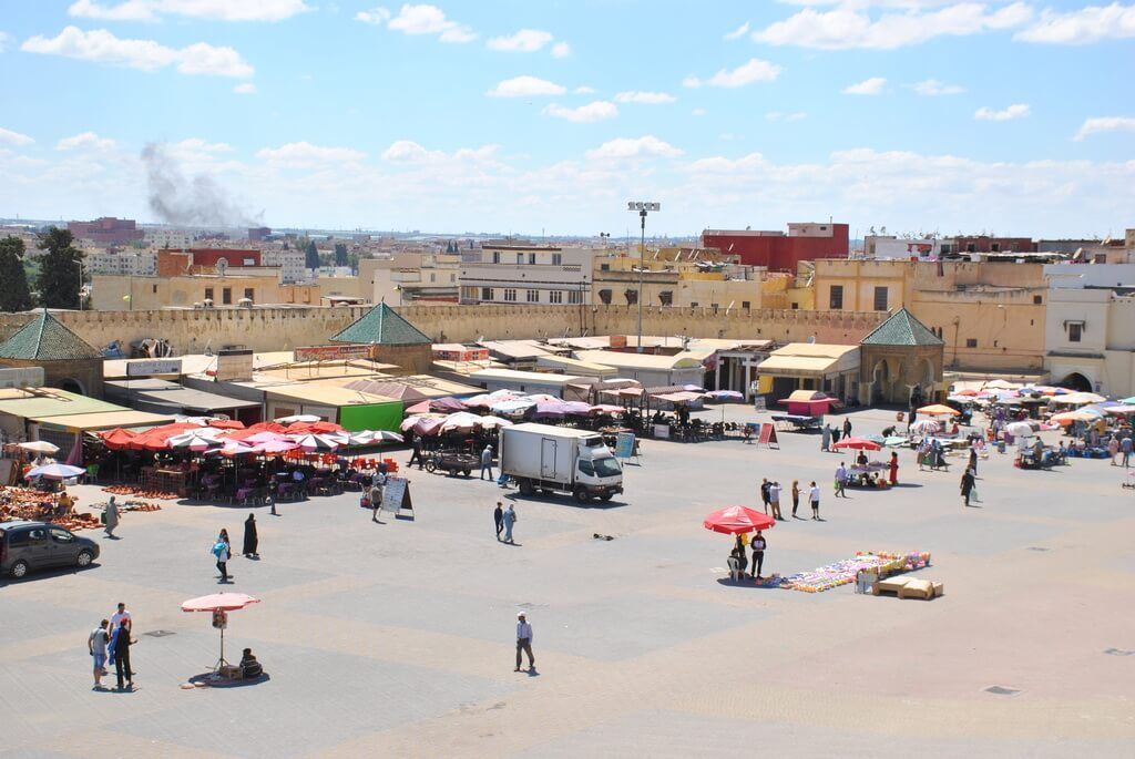
<path id="1" fill-rule="evenodd" d="M 771 270 L 796 271 L 800 261 L 846 259 L 848 225 L 793 222 L 788 234 L 750 229 L 706 229 L 703 247 L 716 247 L 726 255 L 741 256 L 741 263 Z"/>

